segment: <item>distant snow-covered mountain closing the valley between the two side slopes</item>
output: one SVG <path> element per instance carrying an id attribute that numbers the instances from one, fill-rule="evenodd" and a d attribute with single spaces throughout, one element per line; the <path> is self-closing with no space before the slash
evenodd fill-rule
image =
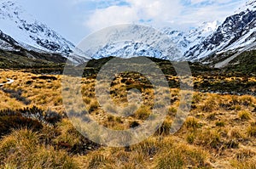
<path id="1" fill-rule="evenodd" d="M 143 26 L 127 26 L 125 29 L 119 29 L 114 38 L 99 37 L 108 39 L 103 44 L 98 45 L 93 51 L 88 48 L 84 53 L 90 55 L 93 59 L 101 59 L 109 56 L 122 58 L 131 58 L 134 56 L 148 56 L 159 59 L 183 60 L 183 54 L 193 47 L 200 44 L 208 35 L 216 31 L 218 22 L 204 23 L 188 33 L 183 31 L 173 31 L 170 27 L 165 27 L 160 31 L 152 30 Z M 153 34 L 158 36 L 152 36 Z M 100 33 L 102 35 L 102 33 Z M 122 42 L 115 42 L 115 39 L 126 37 Z M 132 41 L 137 37 L 137 41 Z M 94 38 L 97 39 L 97 38 Z M 90 40 L 89 42 L 93 42 Z M 147 42 L 147 43 L 145 43 Z M 89 45 L 89 44 L 88 44 Z M 85 46 L 85 45 L 84 45 Z M 84 47 L 83 47 L 84 48 Z"/>

